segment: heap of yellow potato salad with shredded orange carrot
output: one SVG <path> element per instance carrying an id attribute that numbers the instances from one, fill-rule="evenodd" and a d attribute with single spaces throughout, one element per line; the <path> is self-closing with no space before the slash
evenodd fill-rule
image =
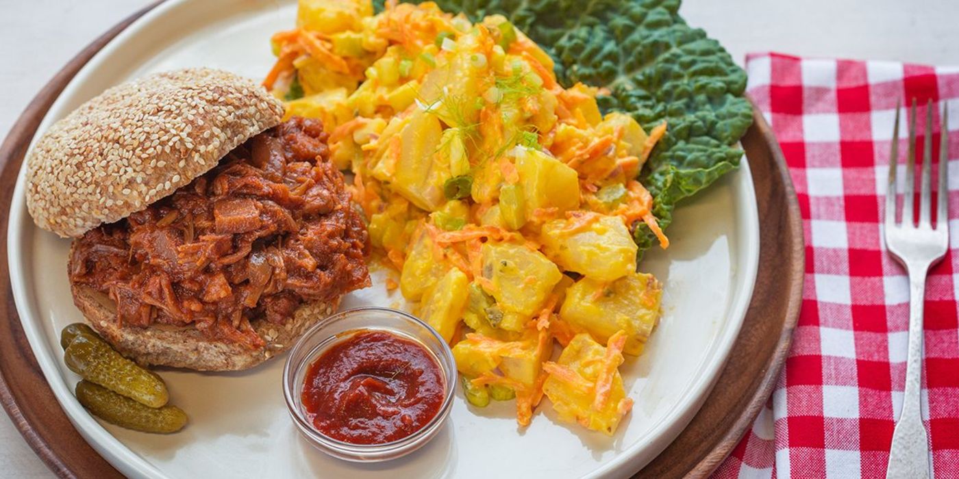
<path id="1" fill-rule="evenodd" d="M 300 0 L 264 84 L 321 119 L 375 254 L 453 347 L 465 398 L 515 400 L 613 434 L 619 368 L 660 316 L 632 231 L 668 239 L 636 178 L 666 122 L 600 113 L 506 18 L 370 0 Z"/>

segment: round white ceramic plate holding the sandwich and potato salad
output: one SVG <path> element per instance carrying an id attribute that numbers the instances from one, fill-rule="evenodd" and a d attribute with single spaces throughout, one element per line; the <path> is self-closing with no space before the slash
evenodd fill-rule
<path id="1" fill-rule="evenodd" d="M 110 42 L 70 82 L 47 114 L 46 130 L 105 88 L 147 73 L 211 66 L 259 79 L 269 70 L 269 36 L 293 26 L 295 2 L 174 0 Z M 646 352 L 622 366 L 633 412 L 613 437 L 558 422 L 548 399 L 519 429 L 513 403 L 485 409 L 461 393 L 437 438 L 393 462 L 356 465 L 325 456 L 297 434 L 283 402 L 284 356 L 252 371 L 162 371 L 172 402 L 191 422 L 173 435 L 137 433 L 99 422 L 73 396 L 58 333 L 82 320 L 66 275 L 69 241 L 37 229 L 24 203 L 21 171 L 9 230 L 17 311 L 36 360 L 63 409 L 107 461 L 131 477 L 580 477 L 628 476 L 686 426 L 720 372 L 752 294 L 759 219 L 746 162 L 683 205 L 669 229 L 672 246 L 652 251 L 642 269 L 664 284 L 664 314 Z M 393 302 L 376 287 L 345 305 Z"/>

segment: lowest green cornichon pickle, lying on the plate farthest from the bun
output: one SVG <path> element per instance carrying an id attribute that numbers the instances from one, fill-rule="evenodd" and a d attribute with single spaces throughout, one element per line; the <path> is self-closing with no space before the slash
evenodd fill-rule
<path id="1" fill-rule="evenodd" d="M 137 431 L 168 433 L 186 425 L 186 413 L 176 406 L 148 407 L 86 379 L 77 383 L 77 400 L 104 421 Z"/>

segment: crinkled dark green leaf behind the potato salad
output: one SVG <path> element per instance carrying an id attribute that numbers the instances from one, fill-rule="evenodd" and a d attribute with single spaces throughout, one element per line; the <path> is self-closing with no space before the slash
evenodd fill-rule
<path id="1" fill-rule="evenodd" d="M 666 229 L 676 203 L 737 168 L 734 147 L 752 124 L 746 74 L 721 45 L 679 15 L 680 0 L 435 0 L 473 21 L 500 13 L 556 60 L 565 86 L 605 86 L 604 112 L 629 113 L 646 131 L 667 121 L 640 180 Z M 377 7 L 382 8 L 382 6 Z M 657 240 L 640 223 L 641 252 Z"/>

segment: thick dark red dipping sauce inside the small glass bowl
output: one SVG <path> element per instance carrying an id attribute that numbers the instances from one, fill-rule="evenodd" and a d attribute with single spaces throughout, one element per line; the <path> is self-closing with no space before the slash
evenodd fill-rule
<path id="1" fill-rule="evenodd" d="M 302 402 L 323 435 L 378 445 L 421 429 L 444 397 L 443 371 L 425 347 L 386 331 L 361 331 L 310 364 Z"/>

